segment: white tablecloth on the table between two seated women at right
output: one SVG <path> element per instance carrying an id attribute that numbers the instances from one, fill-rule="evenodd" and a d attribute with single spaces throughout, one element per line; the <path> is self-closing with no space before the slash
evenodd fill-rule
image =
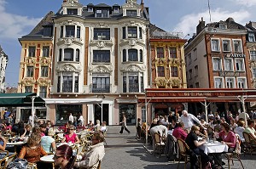
<path id="1" fill-rule="evenodd" d="M 227 144 L 214 142 L 214 144 L 213 143 L 202 144 L 201 146 L 199 146 L 199 149 L 202 149 L 204 153 L 208 155 L 209 153 L 228 152 L 229 146 Z"/>

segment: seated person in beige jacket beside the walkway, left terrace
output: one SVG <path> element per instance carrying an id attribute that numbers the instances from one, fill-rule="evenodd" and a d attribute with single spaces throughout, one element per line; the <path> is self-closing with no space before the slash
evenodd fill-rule
<path id="1" fill-rule="evenodd" d="M 97 168 L 105 155 L 104 135 L 102 132 L 94 132 L 91 138 L 90 151 L 84 155 L 82 161 L 75 162 L 76 168 Z"/>

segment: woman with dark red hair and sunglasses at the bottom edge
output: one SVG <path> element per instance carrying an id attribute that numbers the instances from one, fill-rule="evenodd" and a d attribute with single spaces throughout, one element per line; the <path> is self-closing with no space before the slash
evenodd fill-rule
<path id="1" fill-rule="evenodd" d="M 62 144 L 55 149 L 53 160 L 55 161 L 55 168 L 73 169 L 76 156 L 73 155 L 73 149 L 69 145 Z"/>

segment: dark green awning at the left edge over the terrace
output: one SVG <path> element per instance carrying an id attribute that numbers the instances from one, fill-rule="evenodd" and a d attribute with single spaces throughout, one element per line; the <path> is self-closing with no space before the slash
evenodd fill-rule
<path id="1" fill-rule="evenodd" d="M 32 107 L 32 98 L 34 106 L 44 106 L 44 99 L 37 96 L 37 93 L 0 93 L 0 106 Z"/>

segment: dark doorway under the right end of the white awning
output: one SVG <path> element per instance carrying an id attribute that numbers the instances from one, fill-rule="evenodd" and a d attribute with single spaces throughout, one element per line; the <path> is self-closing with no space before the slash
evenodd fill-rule
<path id="1" fill-rule="evenodd" d="M 109 122 L 108 114 L 109 114 L 108 104 L 94 104 L 94 124 L 96 124 L 96 120 L 99 120 L 99 121 L 106 121 L 108 125 L 108 122 Z"/>

